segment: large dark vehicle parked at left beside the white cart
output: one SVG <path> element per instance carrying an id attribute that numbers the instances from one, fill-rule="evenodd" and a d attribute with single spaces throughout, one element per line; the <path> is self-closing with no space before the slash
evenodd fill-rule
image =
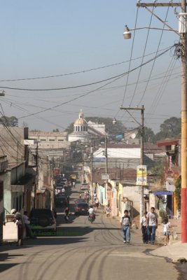
<path id="1" fill-rule="evenodd" d="M 53 212 L 48 208 L 32 209 L 30 213 L 30 227 L 32 230 L 57 230 Z"/>

